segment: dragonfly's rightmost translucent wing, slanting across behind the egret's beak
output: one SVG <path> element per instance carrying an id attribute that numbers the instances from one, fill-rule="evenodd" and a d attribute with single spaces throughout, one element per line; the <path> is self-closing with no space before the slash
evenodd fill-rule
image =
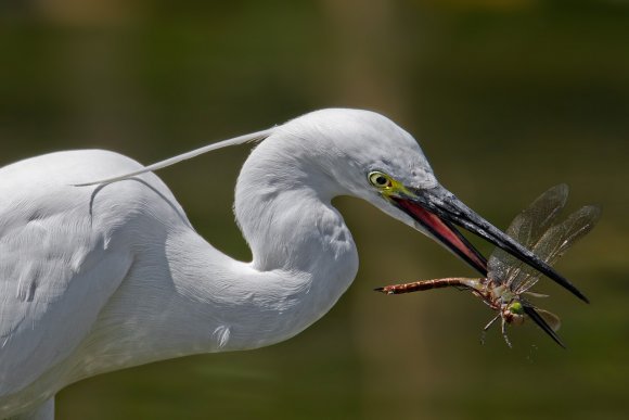
<path id="1" fill-rule="evenodd" d="M 562 224 L 548 229 L 531 251 L 552 265 L 579 239 L 592 230 L 600 216 L 601 209 L 596 206 L 588 205 L 579 208 Z M 512 279 L 511 289 L 518 292 L 527 291 L 540 277 L 541 273 L 534 268 L 522 267 L 517 276 Z"/>

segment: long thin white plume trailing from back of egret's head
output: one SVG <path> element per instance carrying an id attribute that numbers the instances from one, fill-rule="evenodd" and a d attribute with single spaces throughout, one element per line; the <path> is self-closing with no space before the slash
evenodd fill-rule
<path id="1" fill-rule="evenodd" d="M 188 161 L 189 158 L 196 157 L 200 154 L 211 152 L 213 150 L 228 148 L 230 145 L 238 145 L 238 144 L 260 141 L 260 140 L 264 140 L 267 137 L 269 137 L 274 130 L 275 130 L 275 128 L 269 128 L 269 129 L 266 129 L 262 131 L 257 131 L 257 132 L 252 132 L 249 135 L 234 137 L 233 139 L 223 140 L 223 141 L 219 141 L 218 143 L 204 145 L 203 148 L 195 149 L 193 151 L 182 153 L 182 154 L 174 156 L 174 157 L 169 157 L 165 161 L 154 163 L 153 165 L 145 166 L 142 169 L 139 169 L 139 170 L 136 170 L 136 171 L 132 171 L 129 174 L 118 175 L 118 176 L 113 177 L 113 178 L 101 179 L 98 181 L 90 181 L 90 182 L 85 182 L 85 183 L 75 183 L 73 186 L 74 187 L 89 187 L 89 186 L 97 186 L 97 184 L 101 184 L 101 183 L 112 183 L 112 182 L 116 182 L 116 181 L 121 181 L 124 179 L 129 179 L 131 177 L 141 175 L 141 174 L 155 171 L 155 170 L 165 168 L 167 166 L 175 165 L 176 163 L 179 163 L 182 161 Z"/>

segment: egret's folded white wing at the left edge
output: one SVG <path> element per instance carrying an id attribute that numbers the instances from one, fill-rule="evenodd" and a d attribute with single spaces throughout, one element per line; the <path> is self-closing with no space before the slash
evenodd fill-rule
<path id="1" fill-rule="evenodd" d="M 69 356 L 130 266 L 63 215 L 0 233 L 0 395 Z"/>

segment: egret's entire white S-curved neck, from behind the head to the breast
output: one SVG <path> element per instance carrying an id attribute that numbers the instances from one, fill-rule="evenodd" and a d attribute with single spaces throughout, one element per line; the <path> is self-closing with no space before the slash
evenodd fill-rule
<path id="1" fill-rule="evenodd" d="M 317 182 L 310 169 L 307 180 L 287 176 L 286 168 L 296 164 L 287 162 L 292 157 L 269 163 L 262 152 L 256 149 L 257 158 L 245 163 L 234 205 L 253 262 L 220 253 L 185 224 L 168 227 L 166 239 L 162 225 L 143 229 L 155 237 L 140 241 L 165 242 L 164 255 L 137 257 L 144 260 L 131 268 L 80 349 L 85 357 L 75 380 L 153 360 L 273 344 L 317 321 L 347 290 L 358 255 L 331 205 L 338 192 L 310 187 L 330 183 Z"/>

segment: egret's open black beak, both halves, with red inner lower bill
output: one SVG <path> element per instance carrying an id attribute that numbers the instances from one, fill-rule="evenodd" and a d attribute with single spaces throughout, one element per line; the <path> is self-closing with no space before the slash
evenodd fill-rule
<path id="1" fill-rule="evenodd" d="M 389 199 L 398 208 L 418 221 L 434 239 L 441 242 L 483 276 L 487 276 L 486 259 L 452 224 L 504 250 L 554 280 L 581 301 L 589 303 L 588 298 L 573 283 L 550 265 L 474 213 L 444 187 L 437 186 L 431 189 L 407 187 L 405 191 L 389 195 Z"/>

